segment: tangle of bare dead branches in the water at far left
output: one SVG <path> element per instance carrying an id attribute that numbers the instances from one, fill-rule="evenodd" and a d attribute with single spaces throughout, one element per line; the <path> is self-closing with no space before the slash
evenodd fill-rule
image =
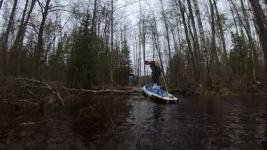
<path id="1" fill-rule="evenodd" d="M 45 100 L 53 104 L 63 105 L 64 101 L 57 87 L 49 85 L 46 81 L 26 78 L 12 78 L 0 76 L 0 100 L 2 103 L 14 105 L 16 108 L 24 104 L 39 105 L 43 108 Z M 53 98 L 53 101 L 51 99 Z M 38 102 L 28 101 L 35 99 Z M 49 103 L 52 104 L 52 103 Z"/>

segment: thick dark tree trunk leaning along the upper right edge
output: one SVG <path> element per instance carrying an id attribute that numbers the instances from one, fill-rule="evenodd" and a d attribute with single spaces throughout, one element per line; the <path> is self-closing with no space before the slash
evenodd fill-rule
<path id="1" fill-rule="evenodd" d="M 249 0 L 255 13 L 255 21 L 259 29 L 259 37 L 262 43 L 265 72 L 267 73 L 267 21 L 259 0 Z"/>

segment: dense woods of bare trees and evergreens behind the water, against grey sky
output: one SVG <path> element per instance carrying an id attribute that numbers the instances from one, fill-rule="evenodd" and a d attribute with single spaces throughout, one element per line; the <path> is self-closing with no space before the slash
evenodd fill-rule
<path id="1" fill-rule="evenodd" d="M 263 85 L 266 10 L 263 0 L 1 0 L 0 71 L 113 87 L 150 75 L 149 59 L 176 87 Z"/>

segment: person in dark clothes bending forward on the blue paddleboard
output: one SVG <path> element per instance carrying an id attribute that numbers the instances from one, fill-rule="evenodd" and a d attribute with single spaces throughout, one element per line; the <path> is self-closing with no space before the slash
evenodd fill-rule
<path id="1" fill-rule="evenodd" d="M 144 63 L 150 65 L 150 69 L 152 70 L 153 87 L 159 86 L 159 77 L 161 74 L 159 63 L 156 61 L 145 61 Z"/>

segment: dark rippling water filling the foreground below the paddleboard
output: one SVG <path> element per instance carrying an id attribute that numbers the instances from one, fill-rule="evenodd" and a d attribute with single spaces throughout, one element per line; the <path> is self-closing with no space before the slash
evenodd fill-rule
<path id="1" fill-rule="evenodd" d="M 267 97 L 81 96 L 64 107 L 0 104 L 0 149 L 267 149 Z"/>

